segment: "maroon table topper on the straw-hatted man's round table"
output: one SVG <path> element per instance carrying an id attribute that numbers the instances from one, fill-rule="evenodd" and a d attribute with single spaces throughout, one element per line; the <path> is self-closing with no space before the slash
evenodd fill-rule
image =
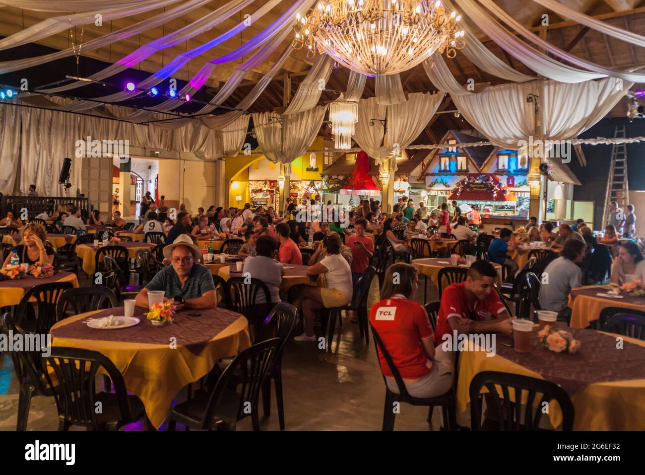
<path id="1" fill-rule="evenodd" d="M 87 318 L 97 319 L 109 315 L 123 315 L 123 311 L 123 307 L 108 308 Z M 144 308 L 137 307 L 135 309 L 134 316 L 141 322 L 128 328 L 120 328 L 119 330 L 90 328 L 84 323 L 87 319 L 80 319 L 54 328 L 50 333 L 54 338 L 148 344 L 169 344 L 170 338 L 175 337 L 177 345 L 185 346 L 193 354 L 199 355 L 208 341 L 241 317 L 239 313 L 224 308 L 181 310 L 177 312 L 172 323 L 156 326 L 146 319 L 143 315 L 144 311 L 146 311 Z M 188 313 L 201 313 L 201 316 L 192 317 Z"/>

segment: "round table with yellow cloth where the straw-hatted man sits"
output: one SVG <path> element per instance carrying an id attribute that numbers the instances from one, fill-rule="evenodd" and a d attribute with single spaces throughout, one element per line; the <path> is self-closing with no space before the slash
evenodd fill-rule
<path id="1" fill-rule="evenodd" d="M 50 333 L 52 346 L 85 348 L 108 357 L 123 374 L 128 392 L 143 402 L 150 423 L 159 428 L 181 388 L 199 381 L 219 359 L 235 356 L 251 343 L 246 318 L 223 308 L 182 310 L 172 324 L 164 326 L 154 326 L 144 311 L 135 310 L 141 322 L 130 328 L 97 330 L 83 322 L 90 315 L 123 315 L 121 307 L 64 319 Z M 202 315 L 187 315 L 195 311 Z"/>

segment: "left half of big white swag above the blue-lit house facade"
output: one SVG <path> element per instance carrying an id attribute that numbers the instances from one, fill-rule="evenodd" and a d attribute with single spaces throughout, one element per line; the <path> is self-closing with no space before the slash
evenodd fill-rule
<path id="1" fill-rule="evenodd" d="M 464 118 L 498 147 L 519 149 L 518 142 L 535 132 L 535 81 L 488 87 L 479 94 L 451 96 Z M 542 100 L 542 98 L 540 98 Z M 542 107 L 541 107 L 542 109 Z"/>

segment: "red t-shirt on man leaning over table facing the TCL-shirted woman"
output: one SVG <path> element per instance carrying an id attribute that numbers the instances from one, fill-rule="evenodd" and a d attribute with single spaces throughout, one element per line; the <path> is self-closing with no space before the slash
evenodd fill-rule
<path id="1" fill-rule="evenodd" d="M 452 284 L 446 287 L 441 294 L 441 307 L 435 326 L 435 345 L 443 343 L 442 337 L 446 333 L 452 333 L 448 318 L 457 315 L 460 319 L 471 319 L 477 322 L 486 320 L 486 314 L 497 315 L 506 310 L 504 304 L 499 300 L 497 292 L 491 290 L 486 300 L 475 301 L 475 308 L 472 310 L 466 298 L 466 282 Z"/>

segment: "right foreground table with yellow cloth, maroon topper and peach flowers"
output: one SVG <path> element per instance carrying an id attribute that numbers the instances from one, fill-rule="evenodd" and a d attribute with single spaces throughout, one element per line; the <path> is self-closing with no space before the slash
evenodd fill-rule
<path id="1" fill-rule="evenodd" d="M 573 402 L 574 430 L 645 430 L 645 370 L 639 363 L 645 357 L 645 341 L 623 337 L 624 348 L 617 350 L 616 335 L 575 328 L 568 330 L 581 341 L 577 354 L 556 354 L 541 348 L 537 341 L 537 325 L 528 354 L 495 344 L 495 355 L 490 356 L 472 343 L 470 350 L 474 351 L 459 353 L 457 412 L 464 412 L 470 403 L 468 390 L 476 374 L 499 371 L 560 385 Z M 599 369 L 594 371 L 594 368 Z M 613 374 L 613 368 L 624 369 L 620 374 Z M 524 396 L 522 402 L 526 403 L 526 393 Z M 500 397 L 503 397 L 501 393 Z M 512 390 L 511 398 L 514 399 Z M 562 412 L 557 403 L 550 405 L 546 420 L 550 420 L 553 427 L 561 424 Z"/>

